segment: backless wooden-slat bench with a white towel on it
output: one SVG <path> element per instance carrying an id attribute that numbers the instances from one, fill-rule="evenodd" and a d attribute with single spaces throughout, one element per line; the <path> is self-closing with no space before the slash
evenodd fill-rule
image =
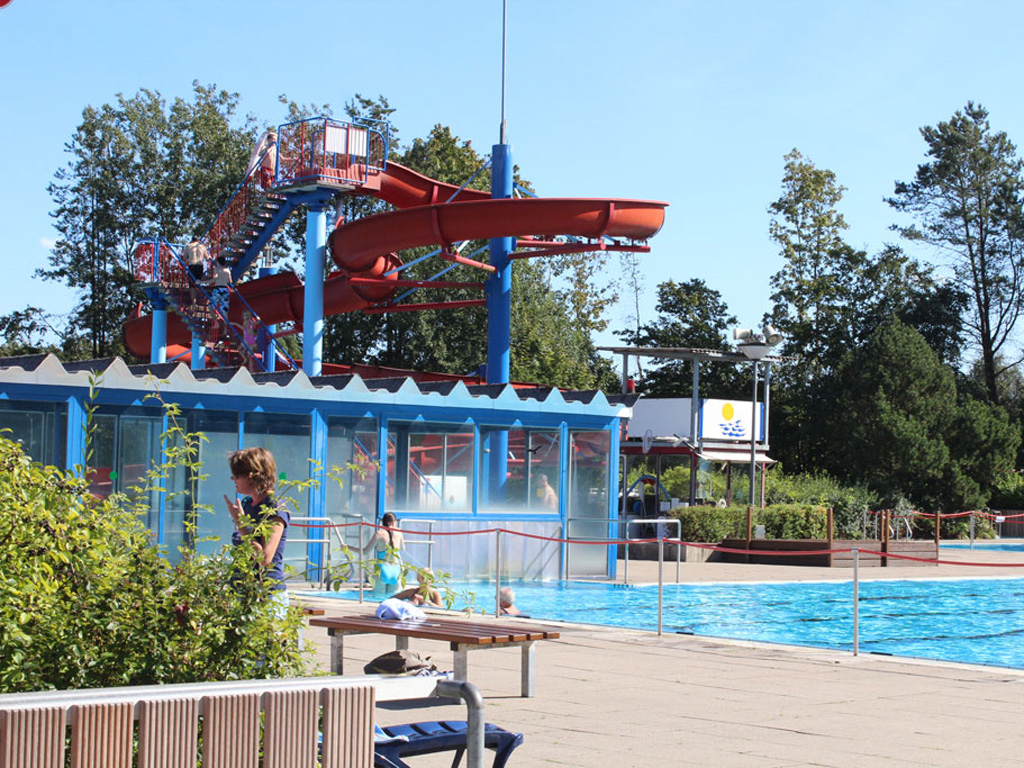
<path id="1" fill-rule="evenodd" d="M 470 622 L 463 618 L 429 617 L 421 622 L 398 622 L 377 618 L 371 615 L 325 616 L 309 620 L 310 627 L 325 627 L 331 637 L 331 672 L 343 674 L 345 635 L 394 635 L 395 648 L 409 648 L 409 639 L 440 640 L 449 643 L 455 653 L 456 680 L 467 680 L 469 664 L 467 654 L 479 648 L 507 648 L 518 646 L 522 649 L 521 691 L 530 697 L 535 692 L 536 669 L 534 645 L 538 640 L 555 640 L 557 632 L 492 622 Z"/>

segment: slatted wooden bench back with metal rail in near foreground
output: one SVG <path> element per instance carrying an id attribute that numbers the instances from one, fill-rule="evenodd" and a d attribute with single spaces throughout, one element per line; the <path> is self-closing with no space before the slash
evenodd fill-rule
<path id="1" fill-rule="evenodd" d="M 324 768 L 371 768 L 376 702 L 453 693 L 467 701 L 465 743 L 482 766 L 471 685 L 366 676 L 0 694 L 0 768 L 178 768 L 200 756 L 203 768 L 304 768 L 317 757 Z"/>

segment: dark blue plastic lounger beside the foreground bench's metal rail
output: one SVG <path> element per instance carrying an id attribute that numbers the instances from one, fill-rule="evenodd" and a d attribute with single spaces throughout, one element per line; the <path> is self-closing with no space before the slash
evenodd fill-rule
<path id="1" fill-rule="evenodd" d="M 374 726 L 374 765 L 377 768 L 414 768 L 402 758 L 455 751 L 452 768 L 462 762 L 466 752 L 466 721 L 408 723 L 406 725 Z M 522 743 L 522 734 L 507 731 L 497 725 L 483 726 L 483 746 L 495 751 L 493 768 L 503 768 L 512 751 Z"/>

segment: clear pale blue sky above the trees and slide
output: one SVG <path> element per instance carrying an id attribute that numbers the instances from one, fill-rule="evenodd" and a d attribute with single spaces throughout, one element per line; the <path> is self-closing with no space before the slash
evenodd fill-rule
<path id="1" fill-rule="evenodd" d="M 545 197 L 671 204 L 641 257 L 644 321 L 659 282 L 699 278 L 740 325 L 759 322 L 781 266 L 767 206 L 794 147 L 836 172 L 848 242 L 877 253 L 896 242 L 884 198 L 923 162 L 922 126 L 972 99 L 1024 141 L 1024 5 L 508 6 L 506 117 L 524 177 Z M 32 273 L 55 237 L 46 186 L 86 105 L 140 88 L 187 96 L 198 79 L 276 124 L 282 93 L 336 113 L 355 93 L 383 94 L 404 141 L 441 123 L 487 153 L 501 119 L 501 0 L 13 0 L 0 8 L 0 313 L 73 304 Z"/>

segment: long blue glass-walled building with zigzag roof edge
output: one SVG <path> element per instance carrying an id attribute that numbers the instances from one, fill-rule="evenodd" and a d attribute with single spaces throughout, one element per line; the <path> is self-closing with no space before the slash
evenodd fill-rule
<path id="1" fill-rule="evenodd" d="M 120 358 L 0 359 L 0 429 L 33 459 L 86 473 L 94 494 L 144 495 L 145 522 L 170 557 L 228 541 L 226 457 L 270 450 L 283 479 L 304 481 L 285 483 L 295 522 L 287 558 L 307 574 L 369 542 L 372 528 L 346 524 L 394 512 L 412 531 L 408 559 L 455 578 L 493 575 L 496 540 L 503 579 L 611 575 L 613 547 L 564 540 L 614 530 L 622 420 L 634 400 Z M 173 468 L 153 487 L 146 473 L 174 446 L 175 425 L 203 435 L 199 466 Z M 498 538 L 496 528 L 513 532 Z"/>

